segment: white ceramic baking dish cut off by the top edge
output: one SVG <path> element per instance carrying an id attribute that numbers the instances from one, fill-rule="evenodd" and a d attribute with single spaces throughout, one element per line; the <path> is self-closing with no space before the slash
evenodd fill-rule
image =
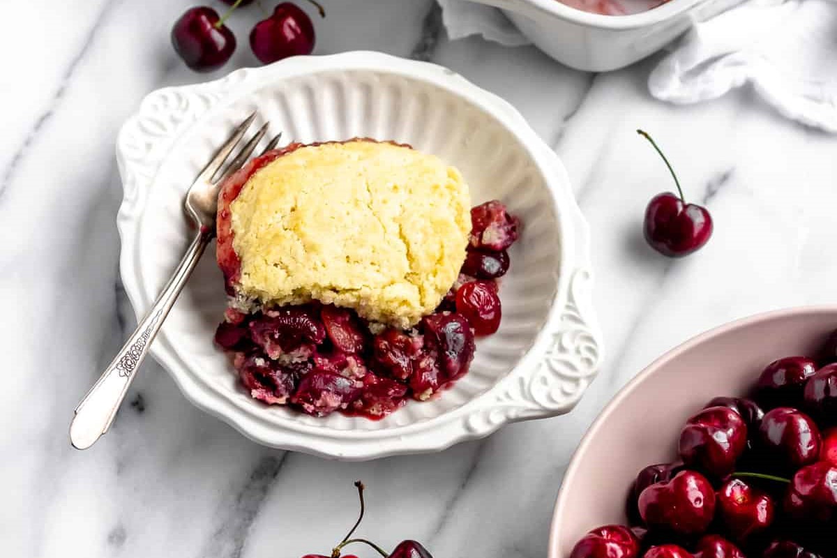
<path id="1" fill-rule="evenodd" d="M 537 48 L 585 71 L 624 68 L 663 48 L 693 23 L 741 0 L 670 0 L 659 8 L 624 16 L 570 8 L 558 0 L 470 0 L 502 8 Z"/>

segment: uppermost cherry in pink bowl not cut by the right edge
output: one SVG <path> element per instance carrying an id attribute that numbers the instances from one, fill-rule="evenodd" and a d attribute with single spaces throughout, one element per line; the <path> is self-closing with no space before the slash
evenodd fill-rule
<path id="1" fill-rule="evenodd" d="M 802 405 L 805 381 L 814 376 L 817 364 L 806 356 L 786 356 L 773 361 L 756 382 L 756 401 L 764 409 Z"/>

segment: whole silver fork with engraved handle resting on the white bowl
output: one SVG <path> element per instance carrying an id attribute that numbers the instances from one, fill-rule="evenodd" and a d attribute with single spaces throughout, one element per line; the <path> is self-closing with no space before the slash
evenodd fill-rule
<path id="1" fill-rule="evenodd" d="M 244 134 L 255 120 L 256 113 L 249 115 L 238 128 L 235 129 L 229 139 L 224 142 L 207 166 L 189 187 L 183 206 L 189 216 L 197 233 L 177 269 L 174 270 L 172 278 L 162 289 L 162 293 L 154 301 L 151 310 L 136 326 L 133 335 L 126 341 L 110 362 L 99 380 L 90 388 L 85 398 L 81 400 L 78 407 L 75 407 L 73 422 L 69 425 L 69 441 L 75 448 L 90 448 L 102 434 L 106 433 L 110 424 L 116 417 L 122 400 L 131 387 L 137 368 L 145 360 L 148 354 L 148 347 L 157 336 L 157 332 L 166 319 L 168 311 L 172 309 L 177 295 L 183 289 L 187 279 L 192 274 L 203 251 L 215 236 L 215 214 L 218 212 L 218 190 L 221 183 L 232 175 L 244 163 L 249 160 L 250 155 L 258 145 L 259 141 L 267 133 L 267 124 L 264 124 L 250 140 L 244 144 L 238 155 L 229 165 L 221 171 L 224 161 L 227 161 L 235 146 L 238 146 Z M 264 151 L 270 151 L 279 143 L 279 134 L 275 136 Z M 264 153 L 263 151 L 263 153 Z"/>

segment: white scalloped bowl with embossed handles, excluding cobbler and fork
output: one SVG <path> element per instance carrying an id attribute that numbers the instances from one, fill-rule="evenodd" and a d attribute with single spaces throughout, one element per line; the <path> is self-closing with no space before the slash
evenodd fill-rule
<path id="1" fill-rule="evenodd" d="M 285 141 L 369 136 L 434 153 L 463 172 L 473 202 L 501 199 L 524 229 L 501 289 L 501 328 L 478 341 L 468 375 L 377 422 L 308 417 L 249 397 L 213 346 L 225 295 L 211 247 L 151 347 L 189 401 L 256 442 L 351 460 L 438 451 L 574 407 L 602 353 L 588 227 L 566 171 L 511 105 L 434 64 L 368 52 L 298 57 L 148 95 L 117 145 L 121 273 L 137 315 L 190 240 L 188 185 L 253 110 Z"/>

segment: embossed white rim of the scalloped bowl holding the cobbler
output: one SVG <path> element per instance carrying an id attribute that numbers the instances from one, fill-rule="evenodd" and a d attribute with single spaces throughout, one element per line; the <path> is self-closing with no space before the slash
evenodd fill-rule
<path id="1" fill-rule="evenodd" d="M 121 270 L 126 293 L 136 309 L 146 301 L 137 287 L 137 269 L 132 259 L 136 231 L 131 215 L 138 188 L 147 187 L 154 175 L 145 176 L 130 166 L 129 136 L 146 132 L 138 125 L 144 111 L 155 109 L 155 95 L 172 91 L 200 92 L 212 97 L 223 93 L 224 103 L 244 97 L 256 84 L 268 84 L 289 76 L 327 71 L 368 70 L 398 74 L 420 80 L 457 95 L 484 111 L 516 136 L 546 179 L 553 203 L 560 207 L 561 270 L 557 294 L 552 300 L 547 323 L 533 345 L 521 356 L 517 366 L 487 392 L 459 408 L 424 422 L 414 422 L 392 429 L 324 433 L 306 425 L 277 428 L 254 412 L 242 412 L 234 403 L 197 382 L 180 370 L 177 351 L 168 350 L 158 340 L 151 354 L 169 371 L 187 399 L 239 430 L 248 438 L 275 448 L 312 453 L 326 458 L 363 460 L 405 453 L 429 453 L 448 448 L 467 439 L 483 438 L 507 422 L 550 417 L 571 410 L 593 380 L 601 360 L 601 334 L 592 305 L 592 272 L 589 257 L 588 225 L 573 198 L 567 173 L 557 155 L 543 143 L 526 120 L 506 101 L 481 90 L 458 74 L 436 64 L 399 59 L 387 54 L 357 51 L 321 57 L 295 57 L 259 69 L 239 69 L 223 79 L 208 84 L 167 88 L 151 93 L 139 112 L 126 121 L 117 141 L 117 161 L 125 185 L 126 197 L 117 219 L 122 240 Z M 240 95 L 230 93 L 238 90 Z M 217 108 L 217 107 L 216 107 Z M 213 110 L 207 110 L 212 112 Z M 193 125 L 204 115 L 191 115 Z M 185 118 L 183 120 L 186 120 Z M 181 134 L 182 135 L 182 134 Z M 149 143 L 154 136 L 143 136 Z M 152 149 L 152 148 L 150 148 Z M 142 169 L 146 170 L 146 169 Z M 164 326 L 161 335 L 165 335 Z M 542 371 L 542 373 L 538 373 Z M 520 393 L 518 393 L 520 392 Z M 560 397 L 556 397 L 559 394 Z"/>

